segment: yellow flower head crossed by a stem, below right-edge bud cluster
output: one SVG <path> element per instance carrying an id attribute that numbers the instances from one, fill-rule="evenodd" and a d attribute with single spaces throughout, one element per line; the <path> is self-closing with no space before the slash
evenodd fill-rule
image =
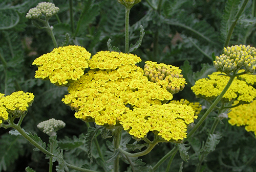
<path id="1" fill-rule="evenodd" d="M 214 72 L 208 78 L 196 81 L 191 90 L 203 99 L 214 100 L 227 85 L 229 77 L 221 75 L 224 73 Z M 227 92 L 224 94 L 222 101 L 229 102 L 238 100 L 241 103 L 250 103 L 256 97 L 256 89 L 248 85 L 245 81 L 234 79 Z"/>

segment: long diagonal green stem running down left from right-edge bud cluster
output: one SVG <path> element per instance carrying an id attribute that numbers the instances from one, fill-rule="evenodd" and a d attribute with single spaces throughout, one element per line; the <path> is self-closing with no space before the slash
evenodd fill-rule
<path id="1" fill-rule="evenodd" d="M 201 119 L 197 122 L 196 126 L 188 133 L 187 138 L 184 139 L 184 142 L 197 131 L 197 129 L 201 126 L 201 124 L 203 123 L 205 118 L 216 107 L 216 105 L 221 101 L 223 95 L 227 92 L 228 88 L 232 84 L 235 77 L 236 77 L 236 75 L 230 76 L 230 79 L 229 79 L 227 85 L 225 86 L 225 88 L 222 90 L 220 95 L 216 98 L 214 103 L 212 103 L 211 106 L 207 109 L 207 111 L 204 113 L 204 115 L 201 117 Z"/>

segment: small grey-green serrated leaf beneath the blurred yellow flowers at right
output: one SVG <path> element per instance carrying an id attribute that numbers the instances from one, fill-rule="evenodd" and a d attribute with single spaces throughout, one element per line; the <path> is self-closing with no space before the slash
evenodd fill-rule
<path id="1" fill-rule="evenodd" d="M 215 151 L 216 145 L 220 142 L 221 134 L 209 134 L 208 139 L 205 143 L 204 149 L 201 151 L 203 153 L 210 153 Z"/>

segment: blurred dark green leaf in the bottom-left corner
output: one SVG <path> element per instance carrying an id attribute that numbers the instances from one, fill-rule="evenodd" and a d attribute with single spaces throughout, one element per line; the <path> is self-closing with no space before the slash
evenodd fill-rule
<path id="1" fill-rule="evenodd" d="M 0 137 L 0 171 L 9 169 L 19 156 L 24 155 L 23 137 L 8 133 Z"/>

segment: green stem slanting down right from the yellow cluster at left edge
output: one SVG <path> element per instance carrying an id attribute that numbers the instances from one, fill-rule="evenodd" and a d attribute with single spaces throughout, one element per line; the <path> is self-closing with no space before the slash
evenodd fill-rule
<path id="1" fill-rule="evenodd" d="M 22 130 L 22 128 L 20 128 L 19 126 L 15 125 L 15 124 L 11 124 L 11 127 L 16 129 L 24 138 L 26 138 L 31 144 L 33 144 L 41 152 L 43 152 L 44 154 L 46 154 L 50 157 L 54 156 L 52 153 L 50 153 L 46 149 L 42 148 L 42 146 L 39 145 L 37 142 L 35 142 L 31 137 L 29 137 L 29 135 L 24 130 Z"/>

